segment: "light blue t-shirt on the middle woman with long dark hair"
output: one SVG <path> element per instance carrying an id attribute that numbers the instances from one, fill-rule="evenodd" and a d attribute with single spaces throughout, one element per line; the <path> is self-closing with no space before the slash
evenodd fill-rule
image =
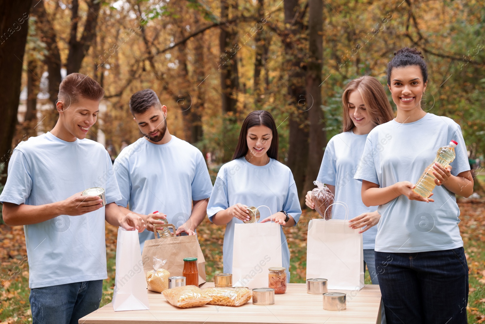
<path id="1" fill-rule="evenodd" d="M 259 221 L 284 210 L 293 217 L 296 224 L 302 212 L 290 168 L 275 159 L 270 159 L 270 162 L 264 166 L 255 166 L 247 162 L 244 157 L 240 157 L 221 167 L 207 206 L 209 220 L 212 222 L 212 217 L 217 212 L 237 203 L 255 207 L 268 206 L 271 213 L 266 207 L 259 208 Z M 243 222 L 234 217 L 226 224 L 223 245 L 225 273 L 232 273 L 234 224 L 236 223 Z M 290 250 L 283 228 L 281 228 L 281 244 L 282 263 L 287 269 L 289 280 Z"/>

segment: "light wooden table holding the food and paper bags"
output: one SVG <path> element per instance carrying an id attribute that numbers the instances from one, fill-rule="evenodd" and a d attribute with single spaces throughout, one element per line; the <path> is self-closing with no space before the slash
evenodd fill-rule
<path id="1" fill-rule="evenodd" d="M 213 287 L 207 282 L 200 288 Z M 253 305 L 252 300 L 240 307 L 204 305 L 178 308 L 170 305 L 161 293 L 148 291 L 149 310 L 117 311 L 105 305 L 79 320 L 82 324 L 380 324 L 381 291 L 378 285 L 362 290 L 329 290 L 347 294 L 347 309 L 323 309 L 323 296 L 307 294 L 306 284 L 289 284 L 285 294 L 275 295 L 275 304 Z"/>

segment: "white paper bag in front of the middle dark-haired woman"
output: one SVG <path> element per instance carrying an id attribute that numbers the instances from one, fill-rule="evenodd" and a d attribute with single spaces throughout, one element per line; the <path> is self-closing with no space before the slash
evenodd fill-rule
<path id="1" fill-rule="evenodd" d="M 268 287 L 268 268 L 281 267 L 282 264 L 280 227 L 275 222 L 234 225 L 234 287 Z"/>

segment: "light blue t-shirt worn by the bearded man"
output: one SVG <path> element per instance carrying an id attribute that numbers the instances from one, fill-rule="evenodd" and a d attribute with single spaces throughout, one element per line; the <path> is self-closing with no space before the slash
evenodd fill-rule
<path id="1" fill-rule="evenodd" d="M 172 135 L 166 144 L 153 144 L 145 137 L 127 146 L 113 165 L 121 199 L 116 204 L 148 215 L 156 210 L 167 215 L 177 228 L 192 213 L 192 201 L 210 197 L 212 182 L 202 153 Z M 147 229 L 138 235 L 143 250 L 153 239 Z"/>

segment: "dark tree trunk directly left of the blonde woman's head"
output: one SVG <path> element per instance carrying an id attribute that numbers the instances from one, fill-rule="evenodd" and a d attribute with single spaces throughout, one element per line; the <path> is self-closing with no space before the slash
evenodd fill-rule
<path id="1" fill-rule="evenodd" d="M 322 48 L 323 48 L 323 2 L 308 1 L 308 64 L 307 64 L 307 101 L 312 100 L 308 110 L 310 118 L 308 164 L 303 192 L 315 188 L 313 181 L 317 179 L 323 158 L 323 148 L 326 146 L 326 132 L 323 130 L 322 110 Z M 305 205 L 305 196 L 300 196 L 300 203 Z"/>

